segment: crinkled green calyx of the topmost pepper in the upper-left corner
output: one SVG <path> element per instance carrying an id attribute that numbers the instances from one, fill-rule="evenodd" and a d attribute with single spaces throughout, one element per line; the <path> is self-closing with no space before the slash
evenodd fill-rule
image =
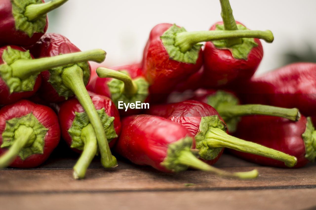
<path id="1" fill-rule="evenodd" d="M 10 0 L 12 4 L 12 15 L 15 20 L 15 29 L 25 32 L 32 37 L 35 32 L 44 33 L 46 25 L 46 14 L 36 20 L 29 21 L 24 15 L 26 7 L 30 4 L 41 4 L 41 0 Z"/>

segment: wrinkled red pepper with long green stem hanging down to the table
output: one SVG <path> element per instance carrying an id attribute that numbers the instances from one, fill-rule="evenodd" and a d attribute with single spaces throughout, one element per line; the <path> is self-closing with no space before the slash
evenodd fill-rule
<path id="1" fill-rule="evenodd" d="M 54 58 L 59 54 L 66 54 L 80 51 L 67 38 L 60 34 L 48 33 L 34 44 L 30 51 L 35 57 Z M 91 98 L 86 90 L 90 78 L 90 65 L 87 57 L 92 57 L 96 62 L 105 59 L 105 51 L 94 50 L 86 51 L 83 61 L 74 61 L 67 66 L 49 69 L 42 72 L 42 85 L 40 88 L 41 97 L 49 102 L 58 102 L 67 99 L 73 94 L 76 95 L 80 104 L 87 112 L 90 123 L 94 128 L 98 140 L 101 163 L 104 167 L 114 167 L 117 165 L 116 158 L 111 154 L 103 126 L 94 108 Z M 79 63 L 80 62 L 80 63 Z"/>

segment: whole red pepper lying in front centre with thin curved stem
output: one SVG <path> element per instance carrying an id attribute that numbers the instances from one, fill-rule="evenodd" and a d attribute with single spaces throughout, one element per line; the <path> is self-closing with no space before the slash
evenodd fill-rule
<path id="1" fill-rule="evenodd" d="M 188 167 L 224 177 L 256 178 L 257 170 L 228 173 L 216 169 L 191 152 L 193 136 L 182 125 L 159 116 L 132 115 L 122 120 L 122 133 L 116 151 L 138 165 L 149 165 L 163 172 L 185 171 Z"/>

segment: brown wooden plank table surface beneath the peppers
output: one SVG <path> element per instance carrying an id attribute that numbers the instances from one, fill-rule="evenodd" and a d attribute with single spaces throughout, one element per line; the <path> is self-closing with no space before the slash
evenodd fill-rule
<path id="1" fill-rule="evenodd" d="M 254 180 L 220 178 L 188 170 L 159 172 L 119 160 L 104 169 L 98 158 L 86 178 L 72 178 L 77 154 L 57 149 L 41 166 L 0 172 L 0 209 L 313 209 L 316 164 L 300 169 L 258 166 L 224 154 L 216 167 L 230 172 L 257 168 Z"/>

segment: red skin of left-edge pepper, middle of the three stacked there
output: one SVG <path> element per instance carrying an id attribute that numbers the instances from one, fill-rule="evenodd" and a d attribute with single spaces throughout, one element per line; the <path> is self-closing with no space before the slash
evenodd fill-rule
<path id="1" fill-rule="evenodd" d="M 26 51 L 25 49 L 23 49 L 19 46 L 15 46 L 15 45 L 7 45 L 7 46 L 1 47 L 0 48 L 0 65 L 4 63 L 4 61 L 2 59 L 2 55 L 3 55 L 3 51 L 8 49 L 8 46 L 10 46 L 12 49 L 20 50 L 22 52 Z M 34 58 L 33 55 L 31 55 L 31 56 L 32 56 L 32 58 Z M 14 103 L 20 99 L 28 98 L 28 97 L 32 96 L 40 88 L 41 81 L 42 81 L 42 79 L 41 79 L 40 75 L 38 75 L 32 91 L 13 92 L 10 94 L 10 90 L 9 90 L 8 85 L 0 77 L 0 104 L 11 104 L 11 103 Z"/>

